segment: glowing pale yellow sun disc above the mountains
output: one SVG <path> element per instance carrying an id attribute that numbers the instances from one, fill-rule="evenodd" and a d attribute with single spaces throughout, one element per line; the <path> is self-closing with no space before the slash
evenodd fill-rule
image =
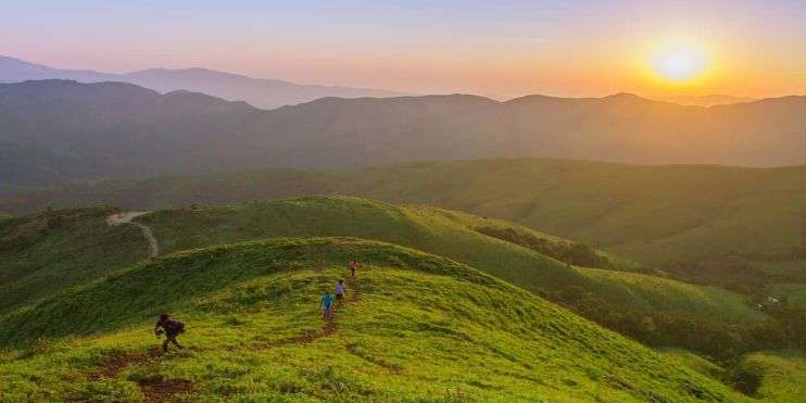
<path id="1" fill-rule="evenodd" d="M 653 71 L 662 78 L 684 83 L 700 77 L 707 66 L 702 49 L 692 46 L 675 46 L 658 50 L 653 58 Z"/>

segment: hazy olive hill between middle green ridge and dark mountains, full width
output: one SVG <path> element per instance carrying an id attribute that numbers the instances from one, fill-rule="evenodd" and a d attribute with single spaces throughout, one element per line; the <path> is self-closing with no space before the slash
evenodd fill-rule
<path id="1" fill-rule="evenodd" d="M 297 175 L 289 196 L 345 193 L 516 222 L 743 292 L 806 284 L 806 166 L 639 166 L 552 159 L 413 163 Z M 7 196 L 0 211 L 155 209 L 282 196 L 274 171 Z M 273 184 L 277 184 L 274 186 Z"/>

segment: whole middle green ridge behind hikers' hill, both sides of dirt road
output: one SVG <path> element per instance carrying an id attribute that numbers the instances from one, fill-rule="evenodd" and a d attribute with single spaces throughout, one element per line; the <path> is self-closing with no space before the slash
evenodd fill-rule
<path id="1" fill-rule="evenodd" d="M 9 273 L 17 273 L 0 287 L 0 300 L 8 301 L 4 311 L 12 312 L 146 259 L 148 245 L 135 226 L 106 225 L 105 214 L 113 212 L 99 209 L 74 216 L 75 211 L 65 211 L 15 218 L 17 224 L 7 231 L 48 219 L 64 224 L 45 230 L 30 244 L 0 254 L 0 263 L 15 267 Z M 771 324 L 769 316 L 736 293 L 638 273 L 568 266 L 551 256 L 582 261 L 603 257 L 511 223 L 440 209 L 396 206 L 351 197 L 313 197 L 165 210 L 136 221 L 151 229 L 163 253 L 276 237 L 339 236 L 392 242 L 473 265 L 653 345 L 711 352 L 714 345 L 701 342 L 701 336 L 710 329 L 716 333 L 705 339 L 719 349 L 731 350 L 732 335 Z M 684 326 L 692 331 L 659 338 L 666 332 L 664 326 Z M 743 341 L 742 345 L 746 349 Z"/>

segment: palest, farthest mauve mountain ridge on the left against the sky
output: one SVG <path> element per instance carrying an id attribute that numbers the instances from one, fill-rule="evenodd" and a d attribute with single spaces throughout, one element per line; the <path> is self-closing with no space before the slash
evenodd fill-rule
<path id="1" fill-rule="evenodd" d="M 128 74 L 109 74 L 89 70 L 61 70 L 0 55 L 0 83 L 40 79 L 71 79 L 79 83 L 130 83 L 160 92 L 197 91 L 229 101 L 245 101 L 262 109 L 298 104 L 325 97 L 383 98 L 404 95 L 368 88 L 301 85 L 277 79 L 252 78 L 206 68 L 152 68 Z"/>

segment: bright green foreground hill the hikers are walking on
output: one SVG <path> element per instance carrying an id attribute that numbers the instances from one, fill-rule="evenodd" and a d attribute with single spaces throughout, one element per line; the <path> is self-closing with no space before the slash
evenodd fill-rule
<path id="1" fill-rule="evenodd" d="M 323 324 L 318 297 L 352 257 L 365 270 Z M 156 357 L 148 332 L 163 311 L 188 325 L 188 349 Z M 0 329 L 13 340 L 73 336 L 0 355 L 0 399 L 11 402 L 744 400 L 467 266 L 353 239 L 181 252 L 48 299 Z"/>

